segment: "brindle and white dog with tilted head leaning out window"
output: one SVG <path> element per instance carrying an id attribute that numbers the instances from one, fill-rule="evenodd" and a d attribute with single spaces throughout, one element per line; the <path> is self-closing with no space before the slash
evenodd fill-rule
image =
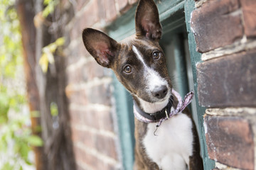
<path id="1" fill-rule="evenodd" d="M 85 48 L 102 67 L 114 71 L 134 99 L 134 169 L 201 170 L 196 125 L 185 101 L 172 88 L 159 45 L 161 23 L 153 0 L 140 0 L 136 34 L 117 42 L 100 30 L 85 28 Z M 186 101 L 187 100 L 187 101 Z"/>

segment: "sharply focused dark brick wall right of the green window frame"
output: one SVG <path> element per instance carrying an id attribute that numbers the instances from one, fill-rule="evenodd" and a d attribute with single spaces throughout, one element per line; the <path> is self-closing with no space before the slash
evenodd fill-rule
<path id="1" fill-rule="evenodd" d="M 201 0 L 191 29 L 203 62 L 198 100 L 208 108 L 208 156 L 217 169 L 255 169 L 256 1 Z"/>

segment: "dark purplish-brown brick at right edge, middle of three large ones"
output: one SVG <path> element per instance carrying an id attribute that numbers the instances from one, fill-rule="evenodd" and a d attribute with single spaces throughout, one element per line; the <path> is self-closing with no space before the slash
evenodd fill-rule
<path id="1" fill-rule="evenodd" d="M 256 50 L 197 65 L 201 106 L 256 106 Z"/>

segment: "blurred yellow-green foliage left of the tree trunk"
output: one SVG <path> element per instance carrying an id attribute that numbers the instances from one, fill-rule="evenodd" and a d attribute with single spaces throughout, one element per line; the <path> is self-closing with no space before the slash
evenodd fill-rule
<path id="1" fill-rule="evenodd" d="M 0 0 L 0 169 L 5 170 L 30 165 L 32 147 L 43 145 L 32 135 L 28 109 L 24 111 L 21 33 L 14 3 Z"/>

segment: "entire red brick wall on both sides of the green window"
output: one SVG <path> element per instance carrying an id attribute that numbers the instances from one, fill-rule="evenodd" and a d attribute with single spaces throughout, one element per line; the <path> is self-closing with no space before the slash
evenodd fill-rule
<path id="1" fill-rule="evenodd" d="M 86 27 L 104 28 L 137 0 L 62 0 L 73 8 L 65 26 L 66 74 L 73 145 L 78 169 L 122 166 L 112 97 L 112 73 L 82 44 Z M 202 61 L 198 98 L 208 108 L 204 128 L 210 159 L 218 169 L 255 169 L 255 0 L 199 0 L 191 17 Z"/>

